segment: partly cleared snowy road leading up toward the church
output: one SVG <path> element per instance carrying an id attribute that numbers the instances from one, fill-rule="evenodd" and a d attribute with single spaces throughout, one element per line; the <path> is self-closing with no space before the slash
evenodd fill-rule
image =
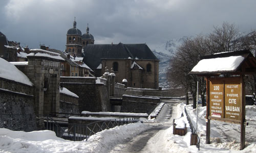
<path id="1" fill-rule="evenodd" d="M 110 151 L 111 153 L 127 152 L 168 152 L 165 143 L 162 143 L 165 130 L 172 126 L 173 118 L 176 117 L 176 103 L 166 104 L 155 122 L 146 122 L 150 129 L 136 135 L 133 138 L 122 140 Z"/>

